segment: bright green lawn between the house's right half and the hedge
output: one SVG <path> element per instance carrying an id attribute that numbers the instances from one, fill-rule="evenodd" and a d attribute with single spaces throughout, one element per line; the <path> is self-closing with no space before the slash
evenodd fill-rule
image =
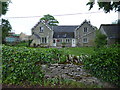
<path id="1" fill-rule="evenodd" d="M 67 50 L 69 54 L 76 55 L 76 56 L 79 56 L 82 54 L 90 55 L 94 52 L 93 47 L 75 47 L 75 48 L 62 48 L 62 49 Z"/>

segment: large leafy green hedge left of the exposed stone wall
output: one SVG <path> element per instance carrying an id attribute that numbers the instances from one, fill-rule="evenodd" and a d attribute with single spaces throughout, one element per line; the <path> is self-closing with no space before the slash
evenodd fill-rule
<path id="1" fill-rule="evenodd" d="M 61 50 L 3 46 L 3 83 L 42 83 L 44 74 L 40 64 L 65 60 Z"/>

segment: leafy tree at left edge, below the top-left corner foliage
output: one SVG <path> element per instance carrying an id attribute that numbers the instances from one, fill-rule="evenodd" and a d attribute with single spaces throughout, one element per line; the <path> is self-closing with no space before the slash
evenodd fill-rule
<path id="1" fill-rule="evenodd" d="M 2 43 L 5 43 L 5 37 L 9 35 L 12 27 L 8 20 L 2 19 Z"/>

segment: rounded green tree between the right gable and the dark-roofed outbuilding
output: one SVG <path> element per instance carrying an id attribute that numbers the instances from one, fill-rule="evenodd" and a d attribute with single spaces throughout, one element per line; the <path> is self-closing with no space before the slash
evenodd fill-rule
<path id="1" fill-rule="evenodd" d="M 100 30 L 96 31 L 95 44 L 97 48 L 103 47 L 107 44 L 107 36 L 102 34 Z"/>

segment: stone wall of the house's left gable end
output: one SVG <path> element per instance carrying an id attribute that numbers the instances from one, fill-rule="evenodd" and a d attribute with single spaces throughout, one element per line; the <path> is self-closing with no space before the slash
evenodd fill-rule
<path id="1" fill-rule="evenodd" d="M 40 27 L 43 28 L 43 32 L 41 32 Z M 40 46 L 45 46 L 45 45 L 52 46 L 53 31 L 50 30 L 50 28 L 46 26 L 44 23 L 39 23 L 34 29 L 32 29 L 32 39 L 33 41 L 31 43 L 31 46 L 33 46 L 34 44 L 40 45 Z"/>

